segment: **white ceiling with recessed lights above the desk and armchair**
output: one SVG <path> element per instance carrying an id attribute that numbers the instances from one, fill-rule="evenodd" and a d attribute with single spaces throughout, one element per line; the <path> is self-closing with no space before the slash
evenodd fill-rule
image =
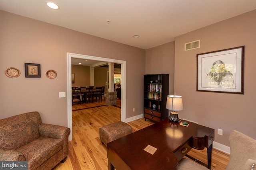
<path id="1" fill-rule="evenodd" d="M 0 0 L 0 10 L 149 49 L 256 9 L 256 0 Z M 110 20 L 110 23 L 107 22 Z M 140 35 L 133 38 L 133 35 Z"/>

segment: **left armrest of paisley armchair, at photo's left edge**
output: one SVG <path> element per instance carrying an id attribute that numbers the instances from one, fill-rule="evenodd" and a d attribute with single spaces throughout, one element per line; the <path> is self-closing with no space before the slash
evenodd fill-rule
<path id="1" fill-rule="evenodd" d="M 0 148 L 0 160 L 1 161 L 25 161 L 25 156 L 16 151 L 10 149 Z"/>

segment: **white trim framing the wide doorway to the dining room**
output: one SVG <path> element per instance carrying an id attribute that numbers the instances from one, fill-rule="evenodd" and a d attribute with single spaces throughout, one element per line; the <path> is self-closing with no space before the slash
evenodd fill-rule
<path id="1" fill-rule="evenodd" d="M 108 59 L 102 57 L 95 57 L 89 55 L 81 55 L 75 53 L 67 53 L 67 102 L 68 102 L 68 127 L 70 128 L 70 135 L 68 137 L 68 141 L 72 141 L 72 92 L 71 92 L 71 58 L 78 58 L 78 59 L 88 59 L 94 61 L 103 61 L 103 62 L 110 62 L 110 63 L 118 63 L 121 64 L 121 81 L 122 81 L 122 100 L 121 100 L 121 121 L 126 122 L 126 61 L 116 60 L 116 59 Z"/>

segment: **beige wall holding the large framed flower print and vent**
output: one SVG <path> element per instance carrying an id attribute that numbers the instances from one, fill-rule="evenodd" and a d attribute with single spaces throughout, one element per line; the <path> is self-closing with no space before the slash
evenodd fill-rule
<path id="1" fill-rule="evenodd" d="M 229 146 L 228 137 L 238 130 L 256 139 L 256 10 L 175 39 L 174 92 L 183 97 L 179 117 L 215 129 L 215 141 Z M 184 51 L 184 44 L 201 40 L 201 47 Z M 244 95 L 196 91 L 196 54 L 245 45 Z M 223 129 L 223 136 L 217 135 Z"/>

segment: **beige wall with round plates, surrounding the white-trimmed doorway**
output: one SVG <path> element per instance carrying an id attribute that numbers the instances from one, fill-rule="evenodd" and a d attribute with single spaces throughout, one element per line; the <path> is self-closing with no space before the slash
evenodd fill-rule
<path id="1" fill-rule="evenodd" d="M 126 118 L 143 113 L 145 50 L 0 11 L 0 119 L 39 111 L 44 123 L 67 126 L 67 53 L 126 61 Z M 134 64 L 134 61 L 136 63 Z M 25 78 L 24 63 L 41 64 L 41 78 Z M 8 67 L 21 74 L 9 78 Z M 46 77 L 47 70 L 57 77 Z M 134 84 L 137 82 L 138 84 Z M 136 108 L 132 112 L 132 108 Z"/>

